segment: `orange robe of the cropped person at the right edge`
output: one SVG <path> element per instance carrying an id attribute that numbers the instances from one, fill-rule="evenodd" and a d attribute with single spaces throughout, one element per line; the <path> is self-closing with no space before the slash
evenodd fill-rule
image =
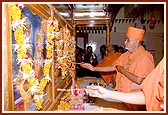
<path id="1" fill-rule="evenodd" d="M 148 111 L 160 111 L 164 103 L 164 58 L 141 84 Z"/>

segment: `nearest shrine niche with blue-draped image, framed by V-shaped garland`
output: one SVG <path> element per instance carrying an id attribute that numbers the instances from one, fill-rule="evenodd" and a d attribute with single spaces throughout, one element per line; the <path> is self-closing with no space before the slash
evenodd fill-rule
<path id="1" fill-rule="evenodd" d="M 41 110 L 45 87 L 51 80 L 44 74 L 45 33 L 40 31 L 42 19 L 27 7 L 10 6 L 12 27 L 12 68 L 14 109 Z"/>

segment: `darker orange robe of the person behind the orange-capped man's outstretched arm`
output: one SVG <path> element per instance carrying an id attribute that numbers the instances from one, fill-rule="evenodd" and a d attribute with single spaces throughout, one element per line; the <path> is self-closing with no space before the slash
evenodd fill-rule
<path id="1" fill-rule="evenodd" d="M 113 53 L 110 56 L 106 56 L 97 66 L 102 67 L 102 66 L 110 66 L 113 64 L 113 62 L 120 57 L 121 53 L 116 52 Z M 100 72 L 102 78 L 106 82 L 106 84 L 109 84 L 111 82 L 112 77 L 116 76 L 116 72 Z"/>

